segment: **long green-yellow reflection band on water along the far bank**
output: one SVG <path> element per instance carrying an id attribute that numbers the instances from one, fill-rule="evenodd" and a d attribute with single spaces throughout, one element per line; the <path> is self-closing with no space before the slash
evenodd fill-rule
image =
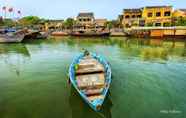
<path id="1" fill-rule="evenodd" d="M 55 38 L 54 38 L 55 39 Z M 56 39 L 68 46 L 94 48 L 95 46 L 117 46 L 123 58 L 136 57 L 143 61 L 168 61 L 183 58 L 186 55 L 186 40 L 135 39 L 127 37 L 111 38 L 74 38 Z"/>

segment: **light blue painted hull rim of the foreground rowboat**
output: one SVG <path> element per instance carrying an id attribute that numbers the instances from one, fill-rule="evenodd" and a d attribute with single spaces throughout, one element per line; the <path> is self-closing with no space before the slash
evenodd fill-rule
<path id="1" fill-rule="evenodd" d="M 72 62 L 72 64 L 70 65 L 69 68 L 69 77 L 70 77 L 70 82 L 73 85 L 73 87 L 77 90 L 77 92 L 79 93 L 79 95 L 83 98 L 83 100 L 95 111 L 99 111 L 102 107 L 102 104 L 107 96 L 109 87 L 110 87 L 110 83 L 111 83 L 111 68 L 109 63 L 101 56 L 95 54 L 95 53 L 91 53 L 91 56 L 95 59 L 97 59 L 101 64 L 103 64 L 104 68 L 105 68 L 105 83 L 107 86 L 105 86 L 103 88 L 103 91 L 101 93 L 101 95 L 103 96 L 102 99 L 96 99 L 94 101 L 91 101 L 87 99 L 87 96 L 81 92 L 79 90 L 79 88 L 77 87 L 77 82 L 75 80 L 75 65 L 77 63 L 80 62 L 80 60 L 83 58 L 83 54 L 78 55 Z"/>

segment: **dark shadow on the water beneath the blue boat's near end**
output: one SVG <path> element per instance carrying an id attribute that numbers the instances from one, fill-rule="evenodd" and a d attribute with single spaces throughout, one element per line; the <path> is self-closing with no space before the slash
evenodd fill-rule
<path id="1" fill-rule="evenodd" d="M 112 118 L 112 101 L 109 94 L 104 101 L 101 111 L 95 112 L 82 100 L 78 92 L 71 85 L 69 104 L 72 111 L 72 118 Z"/>

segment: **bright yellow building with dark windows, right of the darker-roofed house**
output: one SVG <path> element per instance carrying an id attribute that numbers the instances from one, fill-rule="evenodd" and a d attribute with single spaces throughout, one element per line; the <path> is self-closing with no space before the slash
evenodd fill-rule
<path id="1" fill-rule="evenodd" d="M 146 26 L 170 26 L 172 13 L 172 6 L 147 6 L 143 8 L 142 17 Z"/>

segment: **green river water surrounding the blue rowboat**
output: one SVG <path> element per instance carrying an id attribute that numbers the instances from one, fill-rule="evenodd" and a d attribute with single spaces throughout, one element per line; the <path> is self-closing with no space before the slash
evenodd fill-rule
<path id="1" fill-rule="evenodd" d="M 82 48 L 112 67 L 101 112 L 67 81 Z M 64 37 L 0 44 L 0 118 L 186 118 L 186 41 Z"/>

